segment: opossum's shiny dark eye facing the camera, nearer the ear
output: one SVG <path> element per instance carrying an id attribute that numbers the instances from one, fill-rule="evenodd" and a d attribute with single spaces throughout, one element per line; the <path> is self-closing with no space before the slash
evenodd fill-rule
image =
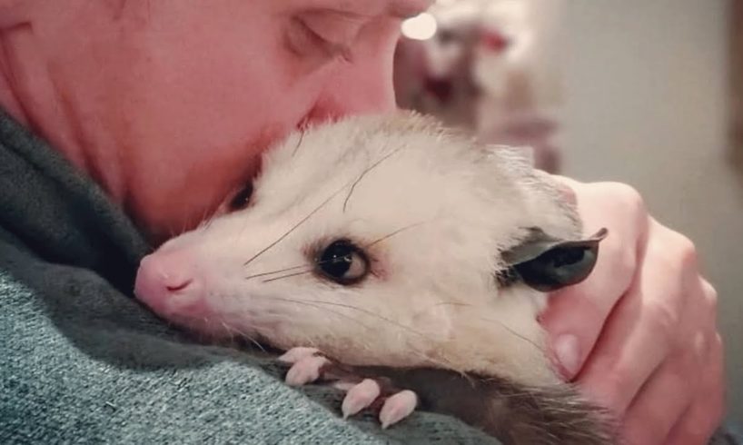
<path id="1" fill-rule="evenodd" d="M 361 282 L 369 273 L 366 254 L 349 240 L 331 242 L 317 260 L 317 271 L 325 278 L 339 284 Z"/>

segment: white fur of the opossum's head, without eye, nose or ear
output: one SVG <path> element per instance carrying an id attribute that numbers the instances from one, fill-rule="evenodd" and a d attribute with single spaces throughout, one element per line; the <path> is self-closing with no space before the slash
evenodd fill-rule
<path id="1" fill-rule="evenodd" d="M 289 136 L 265 154 L 247 208 L 155 252 L 187 255 L 195 284 L 153 306 L 199 331 L 312 346 L 350 365 L 556 383 L 537 321 L 545 294 L 496 280 L 500 252 L 534 227 L 581 234 L 520 149 L 480 146 L 416 114 L 347 118 Z M 340 238 L 368 256 L 362 282 L 312 272 Z"/>

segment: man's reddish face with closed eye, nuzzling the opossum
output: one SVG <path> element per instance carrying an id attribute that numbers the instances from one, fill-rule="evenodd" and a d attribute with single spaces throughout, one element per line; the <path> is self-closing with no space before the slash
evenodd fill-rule
<path id="1" fill-rule="evenodd" d="M 126 189 L 118 198 L 160 239 L 213 212 L 249 181 L 257 155 L 292 129 L 391 109 L 401 19 L 429 5 L 50 3 L 45 27 L 35 32 L 64 35 L 50 67 L 61 79 L 56 86 L 82 110 L 78 124 L 95 125 L 114 142 Z M 110 10 L 107 21 L 81 18 L 102 8 Z M 54 38 L 48 42 L 54 53 Z"/>

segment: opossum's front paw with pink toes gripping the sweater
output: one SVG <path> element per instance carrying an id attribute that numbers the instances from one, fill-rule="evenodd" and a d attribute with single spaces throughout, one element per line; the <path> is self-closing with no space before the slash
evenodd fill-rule
<path id="1" fill-rule="evenodd" d="M 408 417 L 418 406 L 415 392 L 395 389 L 388 381 L 381 379 L 359 377 L 349 368 L 322 356 L 314 348 L 292 348 L 279 357 L 279 361 L 292 365 L 285 377 L 289 385 L 331 381 L 333 387 L 346 391 L 341 406 L 343 419 L 365 408 L 381 405 L 381 427 L 387 428 Z"/>

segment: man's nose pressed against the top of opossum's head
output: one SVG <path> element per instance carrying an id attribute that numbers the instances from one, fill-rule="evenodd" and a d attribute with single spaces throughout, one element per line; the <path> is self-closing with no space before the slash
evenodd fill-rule
<path id="1" fill-rule="evenodd" d="M 307 121 L 338 119 L 351 114 L 394 110 L 392 49 L 389 54 L 357 56 L 339 66 L 315 102 Z"/>

